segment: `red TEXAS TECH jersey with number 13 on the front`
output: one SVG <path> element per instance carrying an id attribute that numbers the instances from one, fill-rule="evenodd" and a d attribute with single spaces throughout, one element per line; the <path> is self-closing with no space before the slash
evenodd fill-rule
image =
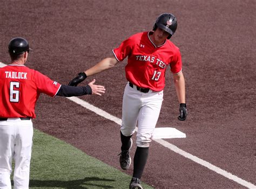
<path id="1" fill-rule="evenodd" d="M 126 79 L 138 87 L 160 91 L 165 86 L 165 71 L 167 65 L 171 71 L 178 74 L 182 70 L 179 48 L 170 40 L 161 46 L 153 44 L 150 32 L 137 33 L 124 40 L 118 48 L 113 50 L 118 61 L 127 56 L 125 66 Z"/>

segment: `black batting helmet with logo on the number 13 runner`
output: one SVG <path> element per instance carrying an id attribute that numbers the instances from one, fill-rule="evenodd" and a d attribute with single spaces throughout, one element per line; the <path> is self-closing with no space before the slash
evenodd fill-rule
<path id="1" fill-rule="evenodd" d="M 171 13 L 163 13 L 157 18 L 156 23 L 154 23 L 153 31 L 157 30 L 157 27 L 159 27 L 160 29 L 170 33 L 170 36 L 167 37 L 167 39 L 170 39 L 176 31 L 177 25 L 177 19 L 174 15 Z"/>

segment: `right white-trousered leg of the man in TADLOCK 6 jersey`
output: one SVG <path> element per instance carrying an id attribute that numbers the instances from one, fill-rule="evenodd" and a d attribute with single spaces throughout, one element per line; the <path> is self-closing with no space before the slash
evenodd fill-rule
<path id="1" fill-rule="evenodd" d="M 29 188 L 33 127 L 31 120 L 19 121 L 16 127 L 14 188 Z"/>

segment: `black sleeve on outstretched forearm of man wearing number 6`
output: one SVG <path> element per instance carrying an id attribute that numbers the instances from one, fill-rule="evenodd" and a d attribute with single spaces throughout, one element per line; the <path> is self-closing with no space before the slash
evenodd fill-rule
<path id="1" fill-rule="evenodd" d="M 60 86 L 60 89 L 56 95 L 70 97 L 70 96 L 82 96 L 86 94 L 92 94 L 92 89 L 89 85 L 78 86 L 78 87 L 62 85 Z"/>

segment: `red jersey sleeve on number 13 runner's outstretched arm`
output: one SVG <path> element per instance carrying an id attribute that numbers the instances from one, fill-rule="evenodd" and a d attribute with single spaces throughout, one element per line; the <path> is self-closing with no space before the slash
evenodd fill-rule
<path id="1" fill-rule="evenodd" d="M 132 46 L 132 40 L 128 38 L 124 40 L 119 47 L 115 48 L 112 51 L 116 59 L 120 62 L 123 61 L 127 57 L 127 55 L 131 53 Z"/>

